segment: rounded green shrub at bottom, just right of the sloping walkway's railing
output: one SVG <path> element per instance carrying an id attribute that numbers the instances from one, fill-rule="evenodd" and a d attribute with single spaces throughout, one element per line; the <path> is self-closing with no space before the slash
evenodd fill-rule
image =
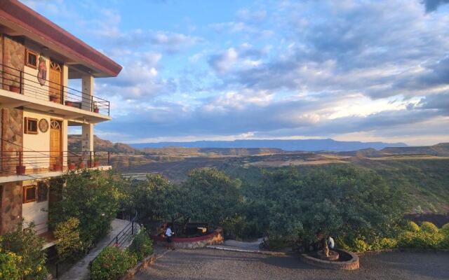
<path id="1" fill-rule="evenodd" d="M 91 279 L 116 280 L 137 264 L 135 255 L 117 247 L 104 248 L 92 262 Z"/>

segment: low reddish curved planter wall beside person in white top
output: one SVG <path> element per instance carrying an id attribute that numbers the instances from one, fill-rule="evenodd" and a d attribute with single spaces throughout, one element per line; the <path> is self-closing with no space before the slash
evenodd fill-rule
<path id="1" fill-rule="evenodd" d="M 152 235 L 151 237 L 158 245 L 167 244 L 166 237 L 161 237 L 159 235 Z M 178 249 L 192 249 L 201 248 L 208 245 L 221 244 L 223 243 L 223 240 L 223 230 L 219 228 L 200 237 L 172 237 L 171 244 Z"/>

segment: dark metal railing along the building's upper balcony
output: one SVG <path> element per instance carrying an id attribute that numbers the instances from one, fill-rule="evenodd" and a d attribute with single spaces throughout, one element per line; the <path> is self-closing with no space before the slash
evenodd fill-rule
<path id="1" fill-rule="evenodd" d="M 105 99 L 94 97 L 86 92 L 74 90 L 50 80 L 41 79 L 42 85 L 35 74 L 4 64 L 0 64 L 0 66 L 0 81 L 3 90 L 10 90 L 39 100 L 51 101 L 109 116 L 109 101 Z"/>

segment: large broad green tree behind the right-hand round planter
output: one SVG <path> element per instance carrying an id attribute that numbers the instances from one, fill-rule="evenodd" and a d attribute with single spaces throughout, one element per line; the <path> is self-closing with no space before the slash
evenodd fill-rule
<path id="1" fill-rule="evenodd" d="M 375 172 L 353 167 L 267 172 L 254 199 L 267 207 L 268 235 L 306 249 L 322 241 L 325 251 L 329 236 L 388 235 L 403 214 L 401 193 Z"/>

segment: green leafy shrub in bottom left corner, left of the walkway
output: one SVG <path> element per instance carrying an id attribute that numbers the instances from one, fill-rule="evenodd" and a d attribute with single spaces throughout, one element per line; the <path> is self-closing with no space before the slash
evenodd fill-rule
<path id="1" fill-rule="evenodd" d="M 36 235 L 34 225 L 27 230 L 19 226 L 15 232 L 3 235 L 1 240 L 2 250 L 20 256 L 20 273 L 24 280 L 47 279 L 46 253 L 42 247 L 43 239 Z"/>

